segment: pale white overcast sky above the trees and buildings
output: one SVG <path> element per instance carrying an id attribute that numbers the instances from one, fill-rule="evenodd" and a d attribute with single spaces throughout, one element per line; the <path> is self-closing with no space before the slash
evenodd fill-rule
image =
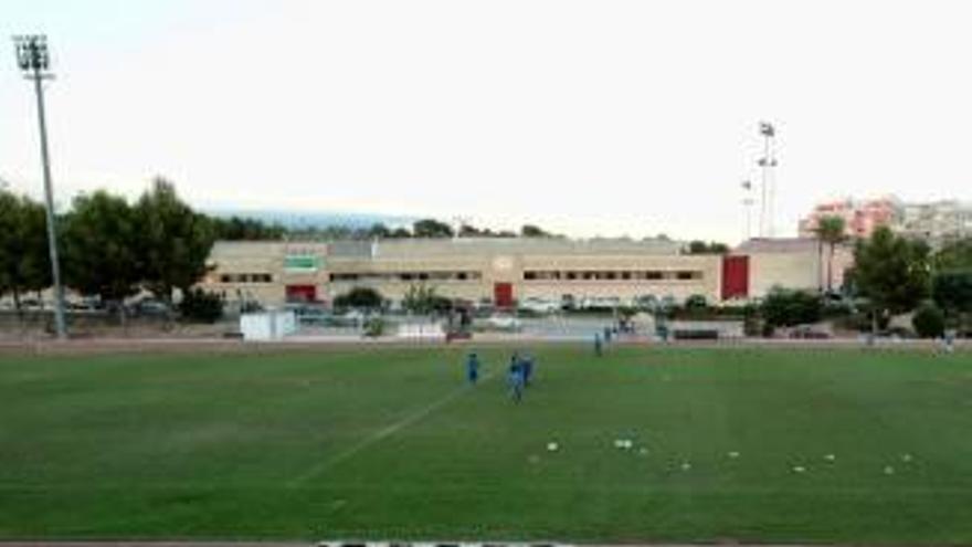
<path id="1" fill-rule="evenodd" d="M 941 0 L 4 0 L 0 35 L 49 36 L 62 207 L 165 176 L 200 208 L 736 242 L 760 120 L 776 126 L 776 235 L 832 198 L 972 200 L 970 15 Z M 7 48 L 0 177 L 40 197 L 34 98 Z"/>

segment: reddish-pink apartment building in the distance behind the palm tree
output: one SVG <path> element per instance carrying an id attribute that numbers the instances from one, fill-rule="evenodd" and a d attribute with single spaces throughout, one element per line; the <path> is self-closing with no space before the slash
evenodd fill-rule
<path id="1" fill-rule="evenodd" d="M 878 227 L 897 227 L 905 214 L 905 206 L 894 196 L 876 199 L 850 198 L 818 203 L 800 220 L 801 238 L 814 238 L 820 220 L 826 217 L 844 219 L 844 233 L 848 238 L 869 238 Z"/>

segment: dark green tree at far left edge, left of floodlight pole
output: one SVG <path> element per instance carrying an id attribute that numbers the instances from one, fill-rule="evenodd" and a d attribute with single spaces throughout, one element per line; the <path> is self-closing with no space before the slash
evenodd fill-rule
<path id="1" fill-rule="evenodd" d="M 0 190 L 0 295 L 11 293 L 20 312 L 23 293 L 51 283 L 44 207 Z"/>

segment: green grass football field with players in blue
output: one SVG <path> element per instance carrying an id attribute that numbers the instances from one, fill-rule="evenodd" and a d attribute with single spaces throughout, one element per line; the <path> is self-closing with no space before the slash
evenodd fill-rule
<path id="1" fill-rule="evenodd" d="M 0 538 L 972 543 L 970 354 L 463 351 L 0 356 Z"/>

